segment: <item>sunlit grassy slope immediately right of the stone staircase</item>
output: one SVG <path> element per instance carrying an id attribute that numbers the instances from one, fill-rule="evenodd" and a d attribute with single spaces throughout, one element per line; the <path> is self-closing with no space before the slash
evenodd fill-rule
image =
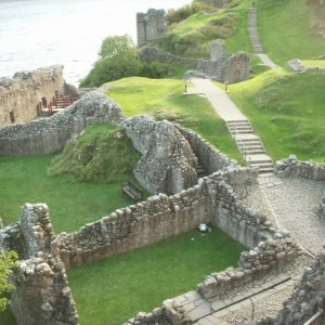
<path id="1" fill-rule="evenodd" d="M 230 95 L 249 118 L 268 154 L 325 161 L 325 74 L 269 70 L 231 86 Z"/>

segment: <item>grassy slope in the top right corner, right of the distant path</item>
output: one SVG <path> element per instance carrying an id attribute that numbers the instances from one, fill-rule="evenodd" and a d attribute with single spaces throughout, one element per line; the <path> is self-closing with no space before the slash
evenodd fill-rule
<path id="1" fill-rule="evenodd" d="M 311 60 L 324 54 L 325 40 L 310 31 L 316 14 L 304 0 L 258 1 L 258 30 L 264 52 L 281 66 L 291 58 Z"/>

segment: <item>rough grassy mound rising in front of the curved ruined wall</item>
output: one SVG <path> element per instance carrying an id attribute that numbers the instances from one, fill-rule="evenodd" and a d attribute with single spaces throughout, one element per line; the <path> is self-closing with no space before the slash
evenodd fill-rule
<path id="1" fill-rule="evenodd" d="M 92 125 L 65 145 L 48 171 L 50 176 L 68 172 L 78 181 L 109 183 L 132 178 L 140 158 L 125 130 Z"/>

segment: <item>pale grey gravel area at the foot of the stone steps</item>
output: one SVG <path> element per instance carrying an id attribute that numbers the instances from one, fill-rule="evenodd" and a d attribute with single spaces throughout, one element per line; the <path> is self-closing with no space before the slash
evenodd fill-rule
<path id="1" fill-rule="evenodd" d="M 325 221 L 317 216 L 324 182 L 275 176 L 259 178 L 246 204 L 268 216 L 274 227 L 289 231 L 304 249 L 317 253 L 325 245 Z"/>

